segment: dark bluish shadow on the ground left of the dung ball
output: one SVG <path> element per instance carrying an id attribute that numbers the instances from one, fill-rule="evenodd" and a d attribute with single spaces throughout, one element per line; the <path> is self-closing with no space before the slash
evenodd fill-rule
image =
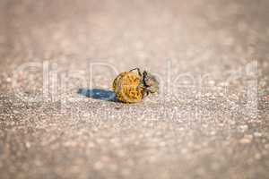
<path id="1" fill-rule="evenodd" d="M 77 91 L 78 94 L 87 97 L 87 98 L 94 98 L 106 101 L 117 102 L 115 98 L 115 93 L 112 90 L 101 90 L 101 89 L 79 89 Z"/>

